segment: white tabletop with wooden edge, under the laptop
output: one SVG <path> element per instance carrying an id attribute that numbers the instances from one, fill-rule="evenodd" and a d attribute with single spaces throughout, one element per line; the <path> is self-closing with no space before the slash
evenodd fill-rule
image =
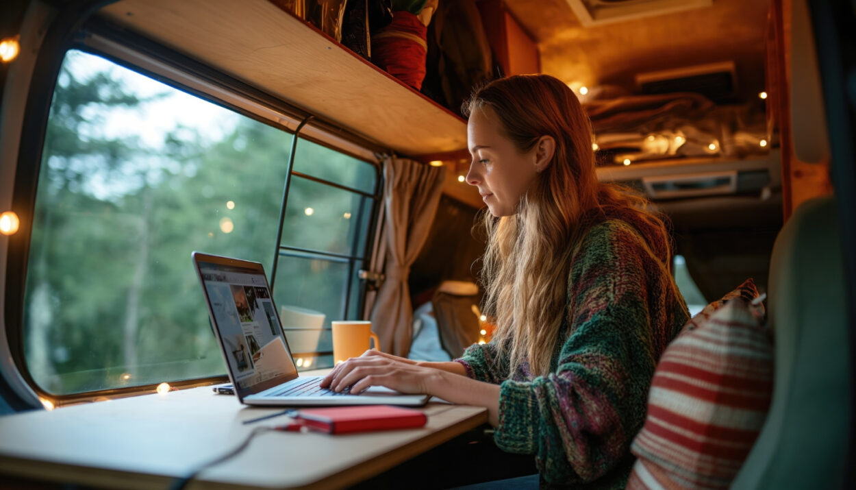
<path id="1" fill-rule="evenodd" d="M 188 488 L 342 488 L 487 421 L 482 407 L 429 403 L 418 429 L 330 435 L 265 432 Z M 211 386 L 0 417 L 0 475 L 94 487 L 158 488 L 287 422 Z M 0 476 L 0 482 L 3 477 Z M 200 482 L 201 481 L 201 482 Z"/>

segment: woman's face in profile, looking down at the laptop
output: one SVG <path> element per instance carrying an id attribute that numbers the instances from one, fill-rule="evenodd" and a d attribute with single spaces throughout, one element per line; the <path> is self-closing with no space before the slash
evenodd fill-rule
<path id="1" fill-rule="evenodd" d="M 479 194 L 496 217 L 517 212 L 520 198 L 538 174 L 538 145 L 520 152 L 514 142 L 502 134 L 499 118 L 490 107 L 476 109 L 467 122 L 467 142 L 473 161 L 467 183 L 479 188 Z"/>

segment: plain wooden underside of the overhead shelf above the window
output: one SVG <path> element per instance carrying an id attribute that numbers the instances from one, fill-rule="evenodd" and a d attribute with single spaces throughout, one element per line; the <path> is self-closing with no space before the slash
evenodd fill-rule
<path id="1" fill-rule="evenodd" d="M 122 0 L 101 14 L 402 155 L 467 147 L 461 117 L 268 0 Z"/>

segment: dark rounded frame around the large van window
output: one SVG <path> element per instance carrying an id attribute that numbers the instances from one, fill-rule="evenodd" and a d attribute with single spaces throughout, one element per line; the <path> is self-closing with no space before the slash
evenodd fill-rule
<path id="1" fill-rule="evenodd" d="M 80 18 L 86 18 L 81 15 Z M 60 21 L 57 23 L 62 24 Z M 63 29 L 64 27 L 64 29 Z M 383 171 L 379 163 L 383 156 L 391 152 L 387 148 L 377 146 L 366 140 L 337 127 L 323 118 L 310 115 L 306 111 L 287 101 L 278 99 L 269 93 L 264 93 L 229 75 L 218 72 L 203 63 L 199 63 L 166 46 L 147 39 L 137 33 L 129 32 L 104 21 L 98 16 L 89 18 L 85 24 L 52 26 L 46 34 L 45 41 L 39 50 L 33 68 L 30 90 L 27 96 L 26 110 L 21 123 L 21 146 L 17 155 L 15 182 L 13 184 L 13 206 L 22 217 L 32 217 L 35 208 L 36 194 L 39 182 L 39 172 L 45 145 L 47 122 L 51 102 L 56 90 L 56 81 L 69 50 L 80 50 L 93 55 L 104 57 L 112 63 L 134 70 L 153 80 L 160 81 L 169 87 L 174 87 L 185 93 L 205 99 L 241 116 L 263 122 L 271 127 L 290 134 L 294 143 L 298 138 L 312 141 L 315 144 L 341 152 L 349 157 L 360 159 L 371 164 L 375 170 L 375 192 L 372 195 L 372 216 L 366 232 L 365 256 L 362 257 L 366 267 L 373 266 L 372 250 L 377 236 L 376 228 L 382 205 L 381 191 L 383 189 Z M 312 124 L 307 124 L 303 131 L 295 132 L 298 122 L 306 117 L 312 117 Z M 294 151 L 289 156 L 294 162 Z M 289 164 L 288 171 L 292 170 Z M 283 180 L 290 178 L 288 173 Z M 315 177 L 312 177 L 314 180 Z M 323 181 L 323 179 L 318 179 Z M 330 185 L 335 182 L 326 182 Z M 336 187 L 344 187 L 338 186 Z M 352 192 L 356 189 L 348 189 Z M 363 194 L 360 191 L 360 194 Z M 287 202 L 282 202 L 284 213 Z M 33 379 L 27 368 L 23 342 L 23 317 L 25 308 L 25 288 L 27 281 L 27 264 L 32 240 L 32 221 L 21 220 L 21 230 L 15 236 L 9 237 L 7 254 L 6 284 L 4 293 L 4 322 L 5 333 L 9 340 L 9 352 L 22 380 L 38 397 L 50 399 L 56 406 L 70 403 L 90 402 L 101 399 L 128 397 L 146 392 L 153 392 L 156 384 L 135 385 L 120 388 L 110 388 L 98 391 L 83 391 L 71 394 L 54 394 L 45 391 Z M 354 238 L 354 242 L 357 238 Z M 280 254 L 280 243 L 276 243 L 276 254 Z M 349 244 L 354 247 L 354 244 Z M 350 261 L 350 272 L 353 271 L 355 260 Z M 276 271 L 271 271 L 275 273 Z M 352 280 L 349 280 L 344 291 L 350 291 Z M 366 281 L 360 281 L 360 302 L 366 300 Z M 349 296 L 345 298 L 349 299 Z M 343 305 L 347 314 L 347 304 Z M 195 385 L 211 385 L 228 381 L 228 376 L 217 375 L 197 379 L 169 381 L 175 387 L 190 387 Z"/>

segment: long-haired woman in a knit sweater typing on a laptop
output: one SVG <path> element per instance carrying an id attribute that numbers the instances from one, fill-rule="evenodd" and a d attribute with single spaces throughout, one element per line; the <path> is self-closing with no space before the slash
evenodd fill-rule
<path id="1" fill-rule="evenodd" d="M 533 454 L 542 483 L 623 487 L 657 359 L 689 319 L 669 233 L 645 200 L 597 181 L 588 118 L 562 81 L 493 81 L 464 111 L 467 182 L 490 212 L 494 338 L 454 362 L 368 351 L 322 385 L 484 406 L 496 445 Z"/>

